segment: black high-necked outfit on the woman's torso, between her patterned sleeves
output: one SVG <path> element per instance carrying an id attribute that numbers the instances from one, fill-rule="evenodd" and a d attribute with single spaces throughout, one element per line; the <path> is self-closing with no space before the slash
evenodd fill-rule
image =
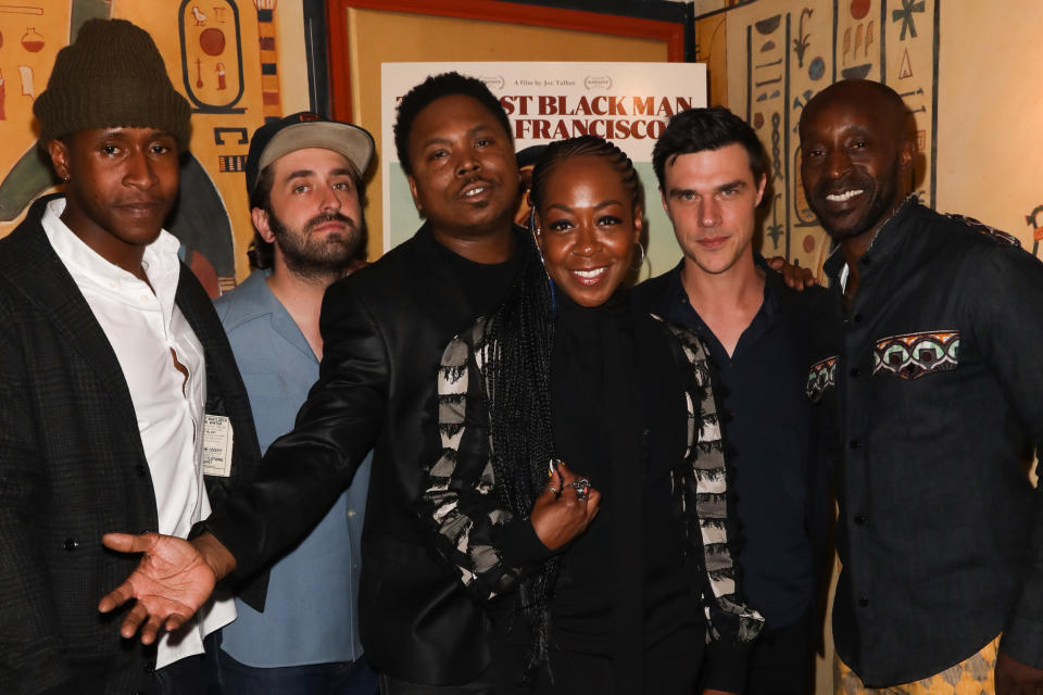
<path id="1" fill-rule="evenodd" d="M 587 308 L 558 291 L 556 306 L 554 445 L 601 491 L 602 506 L 563 554 L 554 637 L 566 649 L 613 656 L 624 681 L 640 679 L 646 649 L 669 648 L 666 635 L 702 624 L 670 505 L 669 471 L 683 465 L 686 371 L 665 328 L 626 293 Z"/>

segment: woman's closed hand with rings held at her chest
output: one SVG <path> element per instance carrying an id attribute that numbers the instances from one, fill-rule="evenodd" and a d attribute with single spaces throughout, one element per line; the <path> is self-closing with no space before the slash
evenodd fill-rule
<path id="1" fill-rule="evenodd" d="M 529 520 L 543 545 L 556 551 L 587 530 L 598 516 L 599 504 L 601 493 L 590 481 L 558 464 L 543 494 L 536 498 Z"/>

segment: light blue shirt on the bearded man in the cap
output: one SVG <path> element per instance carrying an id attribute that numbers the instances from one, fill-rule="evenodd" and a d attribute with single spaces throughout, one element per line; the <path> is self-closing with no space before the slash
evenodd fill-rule
<path id="1" fill-rule="evenodd" d="M 293 429 L 318 379 L 318 359 L 286 307 L 253 273 L 214 305 L 250 396 L 261 450 Z M 367 456 L 351 486 L 296 549 L 272 568 L 264 612 L 236 599 L 222 648 L 248 666 L 274 668 L 362 656 L 359 569 L 369 488 Z"/>

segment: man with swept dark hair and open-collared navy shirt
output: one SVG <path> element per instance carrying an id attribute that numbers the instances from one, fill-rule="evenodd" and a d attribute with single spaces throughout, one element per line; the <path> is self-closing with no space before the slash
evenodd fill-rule
<path id="1" fill-rule="evenodd" d="M 786 287 L 753 249 L 768 172 L 764 147 L 746 122 L 719 106 L 679 113 L 652 162 L 684 257 L 639 286 L 634 296 L 706 342 L 724 387 L 741 581 L 766 621 L 745 664 L 711 645 L 702 685 L 807 695 L 819 634 L 816 596 L 829 558 L 826 481 L 812 467 L 803 395 L 807 324 L 821 290 L 801 294 Z"/>

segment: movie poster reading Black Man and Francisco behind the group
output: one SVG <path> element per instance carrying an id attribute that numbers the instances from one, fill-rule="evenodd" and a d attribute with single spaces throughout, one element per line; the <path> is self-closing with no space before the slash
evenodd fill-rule
<path id="1" fill-rule="evenodd" d="M 652 170 L 652 148 L 670 116 L 706 105 L 706 67 L 698 63 L 384 63 L 381 65 L 384 249 L 420 226 L 394 151 L 395 106 L 428 75 L 456 71 L 478 77 L 511 118 L 515 151 L 580 135 L 615 142 L 644 185 L 649 248 L 642 277 L 680 260 Z"/>

